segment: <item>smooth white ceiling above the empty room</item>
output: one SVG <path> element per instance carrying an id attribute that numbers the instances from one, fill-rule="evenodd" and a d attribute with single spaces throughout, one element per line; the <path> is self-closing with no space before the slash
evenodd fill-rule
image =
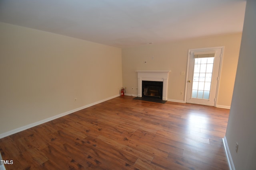
<path id="1" fill-rule="evenodd" d="M 241 32 L 245 0 L 0 0 L 0 22 L 125 48 Z"/>

